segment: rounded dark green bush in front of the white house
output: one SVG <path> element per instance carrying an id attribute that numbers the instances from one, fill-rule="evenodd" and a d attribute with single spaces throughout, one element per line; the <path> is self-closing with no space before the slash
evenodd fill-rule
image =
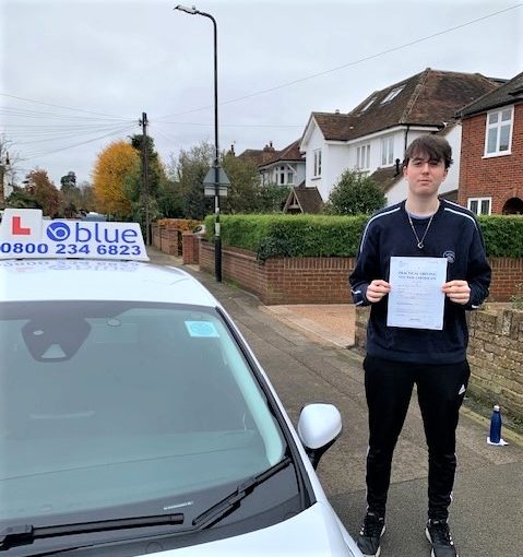
<path id="1" fill-rule="evenodd" d="M 338 215 L 369 214 L 385 205 L 380 185 L 367 173 L 347 169 L 334 186 L 325 212 Z"/>

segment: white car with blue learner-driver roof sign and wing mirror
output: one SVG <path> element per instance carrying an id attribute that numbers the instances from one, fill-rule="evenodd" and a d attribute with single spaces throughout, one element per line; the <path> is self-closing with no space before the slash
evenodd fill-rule
<path id="1" fill-rule="evenodd" d="M 314 472 L 338 411 L 297 432 L 136 224 L 8 209 L 0 254 L 0 556 L 361 557 Z"/>

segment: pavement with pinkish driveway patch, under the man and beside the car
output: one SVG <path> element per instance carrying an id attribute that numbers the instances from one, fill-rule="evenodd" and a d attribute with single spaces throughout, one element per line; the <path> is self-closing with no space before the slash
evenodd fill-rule
<path id="1" fill-rule="evenodd" d="M 219 299 L 257 354 L 296 425 L 304 404 L 323 401 L 342 412 L 343 435 L 320 462 L 325 493 L 353 536 L 365 509 L 367 407 L 362 354 L 354 343 L 354 308 L 263 306 L 198 265 L 148 250 L 159 264 L 182 266 Z M 414 395 L 415 396 L 415 395 Z M 414 401 L 413 401 L 414 402 Z M 504 428 L 503 448 L 486 443 L 488 419 L 463 407 L 457 428 L 459 466 L 451 526 L 461 557 L 523 555 L 523 438 Z M 412 403 L 394 453 L 382 556 L 429 555 L 424 536 L 427 451 L 423 420 Z"/>

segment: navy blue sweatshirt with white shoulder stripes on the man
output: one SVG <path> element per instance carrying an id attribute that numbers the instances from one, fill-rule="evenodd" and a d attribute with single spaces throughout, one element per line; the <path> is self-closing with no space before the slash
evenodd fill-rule
<path id="1" fill-rule="evenodd" d="M 423 237 L 429 218 L 415 218 L 413 224 Z M 476 309 L 488 296 L 490 265 L 485 244 L 471 211 L 440 200 L 423 249 L 408 222 L 405 201 L 376 213 L 364 230 L 361 245 L 349 283 L 356 306 L 367 306 L 367 286 L 375 280 L 389 282 L 390 258 L 435 257 L 445 258 L 447 281 L 467 281 L 471 299 L 460 305 L 445 297 L 443 329 L 406 329 L 387 325 L 389 296 L 371 305 L 367 329 L 367 353 L 397 362 L 420 364 L 452 364 L 466 357 L 468 330 L 466 309 Z"/>

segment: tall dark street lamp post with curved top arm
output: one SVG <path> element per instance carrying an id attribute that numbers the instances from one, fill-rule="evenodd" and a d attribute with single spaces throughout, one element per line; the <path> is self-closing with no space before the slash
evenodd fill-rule
<path id="1" fill-rule="evenodd" d="M 218 147 L 218 40 L 216 20 L 193 5 L 188 8 L 178 4 L 175 10 L 191 15 L 203 15 L 213 22 L 214 29 L 214 274 L 216 281 L 222 282 L 222 236 L 219 234 L 219 147 Z"/>

